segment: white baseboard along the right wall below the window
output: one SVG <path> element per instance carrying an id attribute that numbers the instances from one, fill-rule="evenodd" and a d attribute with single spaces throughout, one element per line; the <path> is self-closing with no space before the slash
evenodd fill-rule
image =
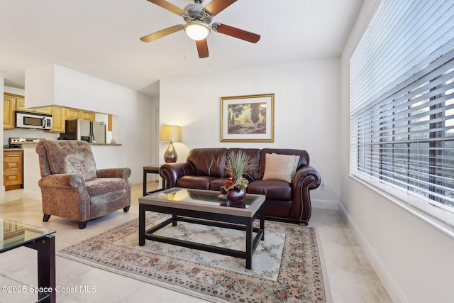
<path id="1" fill-rule="evenodd" d="M 388 292 L 388 295 L 392 299 L 392 302 L 406 303 L 407 300 L 402 295 L 402 293 L 399 292 L 399 289 L 397 288 L 396 283 L 394 283 L 392 276 L 389 275 L 382 261 L 377 257 L 375 250 L 372 249 L 365 236 L 361 233 L 360 228 L 358 228 L 358 226 L 350 217 L 350 214 L 348 214 L 341 203 L 339 203 L 339 210 L 341 211 L 341 215 L 346 219 L 346 221 L 348 221 L 349 226 L 354 232 L 355 239 L 356 241 L 358 241 L 358 245 L 360 246 L 360 248 L 362 248 L 362 251 L 366 255 L 367 260 L 369 260 L 370 265 L 372 265 L 375 273 L 380 278 L 380 281 L 382 282 L 385 290 Z"/>

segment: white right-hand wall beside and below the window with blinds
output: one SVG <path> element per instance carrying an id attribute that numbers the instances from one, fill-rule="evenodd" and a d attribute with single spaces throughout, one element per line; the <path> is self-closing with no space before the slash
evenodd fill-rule
<path id="1" fill-rule="evenodd" d="M 341 209 L 394 302 L 454 302 L 454 239 L 348 176 L 348 60 L 375 11 L 365 0 L 341 60 Z"/>

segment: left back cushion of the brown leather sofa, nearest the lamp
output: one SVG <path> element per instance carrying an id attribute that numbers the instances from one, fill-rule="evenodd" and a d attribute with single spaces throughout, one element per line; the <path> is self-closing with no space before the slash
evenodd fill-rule
<path id="1" fill-rule="evenodd" d="M 194 167 L 196 175 L 221 178 L 226 157 L 227 148 L 194 148 L 189 151 L 187 162 Z"/>

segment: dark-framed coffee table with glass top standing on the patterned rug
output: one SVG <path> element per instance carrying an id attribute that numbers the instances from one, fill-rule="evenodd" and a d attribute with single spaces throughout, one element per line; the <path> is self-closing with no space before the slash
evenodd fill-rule
<path id="1" fill-rule="evenodd" d="M 153 240 L 230 255 L 245 259 L 246 268 L 251 269 L 255 248 L 265 239 L 265 196 L 246 194 L 242 203 L 232 204 L 218 195 L 219 192 L 210 190 L 173 187 L 139 198 L 139 246 L 144 246 L 145 240 Z M 145 230 L 145 211 L 171 214 L 172 217 Z M 256 219 L 260 219 L 258 228 L 253 226 Z M 153 234 L 171 223 L 177 226 L 178 221 L 245 231 L 246 249 L 232 250 Z"/>

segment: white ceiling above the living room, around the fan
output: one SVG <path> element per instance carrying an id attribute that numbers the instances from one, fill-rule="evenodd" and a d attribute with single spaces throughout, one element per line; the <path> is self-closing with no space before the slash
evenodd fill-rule
<path id="1" fill-rule="evenodd" d="M 184 8 L 192 0 L 167 0 Z M 208 4 L 206 0 L 204 4 Z M 0 4 L 0 77 L 23 88 L 25 70 L 57 64 L 145 94 L 157 81 L 341 55 L 363 0 L 239 0 L 214 17 L 261 35 L 256 44 L 211 31 L 199 59 L 184 31 L 150 43 L 140 37 L 184 24 L 146 0 L 13 0 Z"/>

